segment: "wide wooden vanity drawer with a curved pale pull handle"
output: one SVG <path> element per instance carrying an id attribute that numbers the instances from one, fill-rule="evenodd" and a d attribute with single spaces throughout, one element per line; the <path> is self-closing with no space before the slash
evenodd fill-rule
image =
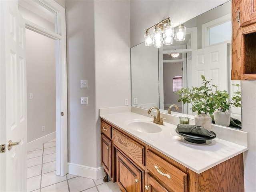
<path id="1" fill-rule="evenodd" d="M 187 192 L 187 174 L 147 150 L 146 168 L 174 192 Z"/>

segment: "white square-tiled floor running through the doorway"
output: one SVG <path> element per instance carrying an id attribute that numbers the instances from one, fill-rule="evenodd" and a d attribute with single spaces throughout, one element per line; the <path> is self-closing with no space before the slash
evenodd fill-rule
<path id="1" fill-rule="evenodd" d="M 56 140 L 28 152 L 28 192 L 120 192 L 118 185 L 103 178 L 92 180 L 67 174 L 56 176 Z"/>

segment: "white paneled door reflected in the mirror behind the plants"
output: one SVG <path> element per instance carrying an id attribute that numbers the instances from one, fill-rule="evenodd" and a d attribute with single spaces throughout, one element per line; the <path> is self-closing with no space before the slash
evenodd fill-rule
<path id="1" fill-rule="evenodd" d="M 192 77 L 188 87 L 202 86 L 204 75 L 218 90 L 228 90 L 228 45 L 226 43 L 192 51 Z M 190 84 L 191 83 L 191 84 Z"/>

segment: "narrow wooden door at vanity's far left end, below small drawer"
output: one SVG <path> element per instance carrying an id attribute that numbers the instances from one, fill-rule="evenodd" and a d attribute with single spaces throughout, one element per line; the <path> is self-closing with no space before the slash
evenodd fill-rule
<path id="1" fill-rule="evenodd" d="M 111 177 L 111 140 L 101 134 L 101 163 L 104 170 Z"/>

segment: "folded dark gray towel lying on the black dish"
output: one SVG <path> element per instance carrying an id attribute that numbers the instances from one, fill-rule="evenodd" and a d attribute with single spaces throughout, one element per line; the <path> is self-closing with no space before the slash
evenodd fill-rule
<path id="1" fill-rule="evenodd" d="M 184 134 L 191 134 L 197 136 L 204 136 L 204 137 L 214 137 L 215 135 L 198 125 L 185 125 L 185 124 L 178 124 L 177 130 L 180 133 Z"/>

